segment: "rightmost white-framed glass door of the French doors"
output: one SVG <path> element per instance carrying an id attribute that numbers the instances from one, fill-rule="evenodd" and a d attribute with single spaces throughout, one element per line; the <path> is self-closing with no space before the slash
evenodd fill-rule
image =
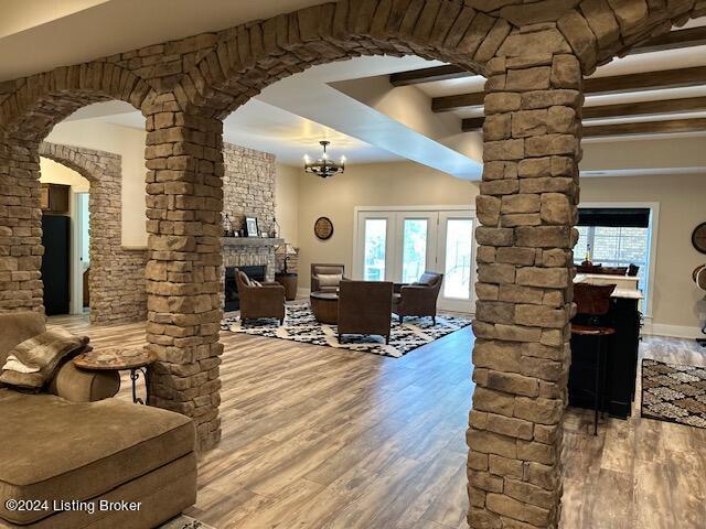
<path id="1" fill-rule="evenodd" d="M 473 312 L 475 219 L 470 212 L 439 213 L 437 269 L 443 273 L 439 307 L 447 311 Z"/>

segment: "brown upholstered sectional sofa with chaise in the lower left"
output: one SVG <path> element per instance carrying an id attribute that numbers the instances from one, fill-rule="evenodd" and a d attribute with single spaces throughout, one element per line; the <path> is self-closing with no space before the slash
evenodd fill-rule
<path id="1" fill-rule="evenodd" d="M 0 366 L 42 332 L 39 314 L 0 314 Z M 0 528 L 151 528 L 195 503 L 193 421 L 118 387 L 71 361 L 46 392 L 0 387 Z"/>

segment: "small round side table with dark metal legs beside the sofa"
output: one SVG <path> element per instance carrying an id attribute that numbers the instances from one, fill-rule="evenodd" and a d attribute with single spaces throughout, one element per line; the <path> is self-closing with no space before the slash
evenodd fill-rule
<path id="1" fill-rule="evenodd" d="M 132 402 L 136 404 L 150 403 L 150 379 L 148 367 L 157 358 L 147 347 L 106 347 L 105 349 L 84 353 L 74 358 L 74 365 L 88 371 L 130 371 L 132 381 Z M 145 400 L 137 396 L 137 381 L 140 373 L 145 379 L 147 396 Z"/>

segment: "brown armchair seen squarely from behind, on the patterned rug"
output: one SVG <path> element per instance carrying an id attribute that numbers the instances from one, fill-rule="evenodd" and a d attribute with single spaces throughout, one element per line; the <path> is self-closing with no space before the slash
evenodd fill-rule
<path id="1" fill-rule="evenodd" d="M 393 283 L 341 281 L 339 288 L 339 342 L 344 334 L 375 334 L 389 344 Z"/>

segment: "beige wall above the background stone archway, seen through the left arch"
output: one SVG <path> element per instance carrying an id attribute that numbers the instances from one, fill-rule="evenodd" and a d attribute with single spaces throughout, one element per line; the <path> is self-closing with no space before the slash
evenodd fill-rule
<path id="1" fill-rule="evenodd" d="M 52 143 L 113 152 L 122 156 L 122 245 L 147 246 L 145 215 L 145 131 L 98 120 L 64 121 L 46 138 Z"/>

